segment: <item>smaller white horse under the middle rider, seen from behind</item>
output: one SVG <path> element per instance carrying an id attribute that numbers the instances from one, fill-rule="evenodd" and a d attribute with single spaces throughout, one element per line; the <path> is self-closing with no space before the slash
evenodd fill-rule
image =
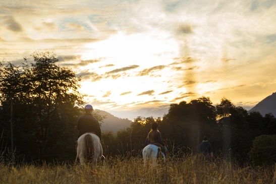
<path id="1" fill-rule="evenodd" d="M 166 147 L 165 152 L 168 153 L 168 150 Z M 158 157 L 158 153 L 163 157 L 163 162 L 166 162 L 166 157 L 164 153 L 161 152 L 161 148 L 159 146 L 156 146 L 154 144 L 149 144 L 143 149 L 143 160 L 144 160 L 144 165 L 146 165 L 149 161 L 151 161 L 152 166 L 155 167 L 157 165 L 156 159 Z"/>

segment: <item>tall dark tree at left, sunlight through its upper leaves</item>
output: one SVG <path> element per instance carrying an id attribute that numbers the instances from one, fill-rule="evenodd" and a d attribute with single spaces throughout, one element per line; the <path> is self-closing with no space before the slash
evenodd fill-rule
<path id="1" fill-rule="evenodd" d="M 32 56 L 31 65 L 26 58 L 22 67 L 1 63 L 0 98 L 3 113 L 13 99 L 17 152 L 25 159 L 27 155 L 46 159 L 65 145 L 61 141 L 76 139 L 75 119 L 83 95 L 78 92 L 80 78 L 71 69 L 57 66 L 56 54 L 34 52 Z"/>

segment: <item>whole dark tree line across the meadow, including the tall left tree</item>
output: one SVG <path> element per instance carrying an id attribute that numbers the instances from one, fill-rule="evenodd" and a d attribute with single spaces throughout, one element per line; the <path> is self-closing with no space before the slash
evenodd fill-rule
<path id="1" fill-rule="evenodd" d="M 1 159 L 15 155 L 18 162 L 74 160 L 76 121 L 85 104 L 84 94 L 78 91 L 81 78 L 71 69 L 59 67 L 56 54 L 34 52 L 32 57 L 34 63 L 24 58 L 19 67 L 0 62 Z M 94 116 L 99 121 L 104 118 Z M 271 113 L 248 113 L 226 98 L 213 105 L 204 96 L 171 104 L 163 117 L 138 116 L 117 135 L 103 133 L 105 156 L 139 155 L 152 122 L 158 123 L 174 155 L 197 153 L 207 136 L 217 153 L 241 160 L 260 155 L 260 145 L 272 140 L 268 145 L 272 151 L 263 157 L 272 162 L 276 159 L 276 118 Z"/>

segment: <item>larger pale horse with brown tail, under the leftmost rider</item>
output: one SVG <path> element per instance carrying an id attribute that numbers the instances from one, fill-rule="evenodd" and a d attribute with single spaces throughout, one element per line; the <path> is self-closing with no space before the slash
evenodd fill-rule
<path id="1" fill-rule="evenodd" d="M 102 146 L 100 144 L 100 138 L 93 133 L 85 133 L 78 139 L 77 147 L 77 159 L 80 159 L 80 163 L 84 164 L 86 162 L 91 162 L 93 160 L 93 165 L 97 166 L 97 161 L 102 157 Z"/>

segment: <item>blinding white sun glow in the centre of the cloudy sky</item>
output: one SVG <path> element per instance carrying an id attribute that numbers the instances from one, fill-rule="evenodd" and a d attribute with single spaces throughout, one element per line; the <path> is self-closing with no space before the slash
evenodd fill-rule
<path id="1" fill-rule="evenodd" d="M 178 44 L 174 39 L 167 39 L 163 34 L 163 40 L 154 38 L 154 35 L 132 34 L 125 35 L 118 33 L 106 40 L 90 43 L 86 48 L 90 52 L 83 54 L 83 60 L 103 58 L 100 62 L 89 64 L 81 70 L 94 71 L 98 75 L 106 72 L 137 65 L 139 67 L 131 70 L 115 73 L 119 78 L 112 76 L 102 78 L 100 81 L 81 83 L 81 90 L 88 101 L 96 100 L 108 102 L 105 108 L 112 108 L 116 104 L 124 105 L 144 103 L 146 101 L 159 100 L 156 96 L 165 90 L 169 90 L 169 84 L 162 84 L 169 81 L 169 64 L 173 63 L 172 58 L 178 53 Z M 149 72 L 139 76 L 139 72 L 150 69 L 157 65 L 167 66 L 166 68 Z M 103 67 L 111 65 L 111 67 Z M 94 89 L 91 92 L 91 89 Z M 143 93 L 146 94 L 143 94 Z M 149 94 L 147 94 L 147 92 Z M 164 100 L 163 98 L 161 100 Z M 102 104 L 103 105 L 103 104 Z"/>

